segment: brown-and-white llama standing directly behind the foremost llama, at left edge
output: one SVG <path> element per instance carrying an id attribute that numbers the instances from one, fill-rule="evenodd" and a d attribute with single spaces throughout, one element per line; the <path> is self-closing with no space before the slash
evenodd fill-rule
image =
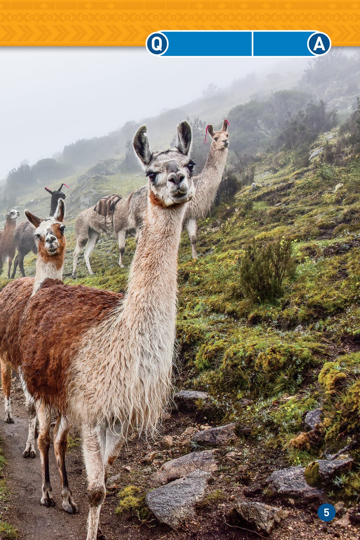
<path id="1" fill-rule="evenodd" d="M 0 364 L 2 376 L 2 388 L 5 395 L 5 423 L 13 423 L 10 404 L 11 372 L 14 367 L 10 357 L 17 354 L 14 349 L 10 354 L 6 353 L 8 335 L 17 334 L 25 306 L 29 298 L 36 294 L 46 278 L 52 280 L 63 279 L 63 266 L 65 260 L 65 237 L 63 224 L 65 206 L 62 199 L 58 201 L 58 207 L 54 217 L 40 220 L 35 215 L 25 210 L 26 218 L 31 222 L 38 248 L 35 278 L 23 278 L 12 281 L 0 293 Z M 15 343 L 12 344 L 16 348 Z M 23 457 L 35 457 L 35 427 L 37 409 L 35 401 L 30 397 L 24 382 L 21 369 L 20 380 L 23 386 L 26 407 L 29 410 L 29 435 L 26 441 Z"/>

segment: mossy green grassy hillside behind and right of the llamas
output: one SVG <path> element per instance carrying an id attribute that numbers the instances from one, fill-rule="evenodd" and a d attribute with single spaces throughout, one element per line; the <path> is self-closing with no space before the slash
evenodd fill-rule
<path id="1" fill-rule="evenodd" d="M 329 137 L 336 143 L 337 130 L 315 146 Z M 289 152 L 262 154 L 255 188 L 243 187 L 199 224 L 198 260 L 185 233 L 181 239 L 177 384 L 207 390 L 208 417 L 235 421 L 257 452 L 290 464 L 343 448 L 360 428 L 359 176 L 356 157 L 331 166 L 317 156 L 295 170 Z M 73 283 L 68 221 L 65 281 Z M 127 241 L 126 265 L 134 248 Z M 116 241 L 104 237 L 93 252 L 96 275 L 81 258 L 75 282 L 123 291 L 128 269 L 117 261 Z M 29 255 L 29 273 L 34 263 Z M 324 420 L 305 434 L 303 414 L 317 407 Z M 357 501 L 359 469 L 330 496 Z"/>

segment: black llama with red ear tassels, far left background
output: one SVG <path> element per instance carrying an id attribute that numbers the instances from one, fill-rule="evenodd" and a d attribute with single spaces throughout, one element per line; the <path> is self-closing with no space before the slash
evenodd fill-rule
<path id="1" fill-rule="evenodd" d="M 61 191 L 63 186 L 66 186 L 66 184 L 62 184 L 57 191 L 51 191 L 49 190 L 49 188 L 45 187 L 45 190 L 51 194 L 50 215 L 55 214 L 59 199 L 66 199 L 65 193 Z M 11 279 L 15 278 L 18 265 L 23 278 L 25 278 L 25 255 L 30 253 L 30 251 L 32 251 L 36 255 L 36 242 L 34 237 L 33 225 L 31 225 L 29 221 L 24 221 L 23 223 L 21 223 L 15 230 L 14 240 L 17 249 L 17 255 L 15 257 L 15 260 L 13 261 Z"/>

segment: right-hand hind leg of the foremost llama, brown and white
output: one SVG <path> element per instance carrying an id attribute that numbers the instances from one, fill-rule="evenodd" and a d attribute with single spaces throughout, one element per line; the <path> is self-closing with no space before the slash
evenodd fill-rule
<path id="1" fill-rule="evenodd" d="M 61 496 L 63 500 L 63 509 L 65 512 L 69 512 L 69 514 L 76 514 L 78 512 L 78 507 L 72 498 L 72 492 L 69 488 L 69 481 L 67 480 L 65 467 L 67 436 L 69 435 L 69 430 L 69 424 L 60 416 L 57 419 L 54 428 L 54 450 L 62 485 Z"/>

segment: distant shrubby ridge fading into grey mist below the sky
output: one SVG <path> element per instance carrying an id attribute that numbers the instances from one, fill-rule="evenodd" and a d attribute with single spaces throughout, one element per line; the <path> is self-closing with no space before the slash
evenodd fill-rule
<path id="1" fill-rule="evenodd" d="M 229 163 L 235 168 L 243 168 L 249 156 L 270 148 L 291 150 L 296 146 L 305 156 L 310 151 L 311 137 L 330 129 L 356 109 L 359 80 L 360 56 L 346 56 L 342 49 L 333 49 L 324 58 L 296 64 L 296 69 L 291 69 L 289 61 L 279 62 L 279 71 L 248 73 L 221 88 L 209 84 L 202 97 L 180 107 L 165 109 L 154 117 L 128 119 L 103 137 L 74 141 L 51 158 L 40 159 L 33 165 L 23 161 L 0 183 L 1 211 L 10 206 L 22 209 L 27 202 L 41 201 L 43 186 L 50 183 L 54 187 L 60 180 L 74 190 L 74 197 L 69 199 L 70 211 L 92 204 L 101 197 L 102 190 L 126 195 L 139 184 L 134 178 L 141 174 L 141 167 L 131 141 L 142 123 L 147 125 L 156 150 L 171 145 L 174 127 L 188 118 L 193 125 L 197 171 L 207 155 L 208 147 L 203 145 L 205 126 L 209 123 L 219 126 L 223 118 L 230 122 Z M 323 105 L 317 109 L 320 103 Z M 321 118 L 326 120 L 327 114 L 332 114 L 332 120 L 310 127 L 312 121 L 316 123 L 314 114 L 320 115 L 319 122 Z M 306 128 L 304 118 L 308 122 Z M 308 135 L 291 142 L 290 134 L 294 130 L 308 130 Z M 45 208 L 41 210 L 44 212 Z"/>

